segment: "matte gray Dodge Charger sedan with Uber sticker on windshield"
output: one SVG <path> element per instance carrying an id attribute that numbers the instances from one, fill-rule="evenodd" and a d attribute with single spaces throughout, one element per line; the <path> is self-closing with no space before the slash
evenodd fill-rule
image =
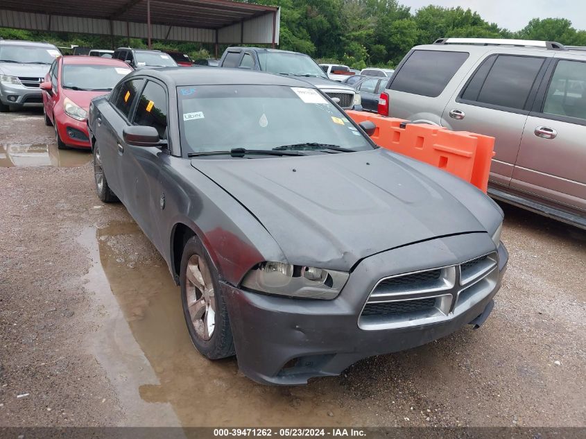
<path id="1" fill-rule="evenodd" d="M 98 197 L 121 200 L 181 286 L 209 359 L 265 384 L 338 375 L 494 306 L 503 212 L 378 148 L 304 80 L 135 71 L 89 108 Z"/>

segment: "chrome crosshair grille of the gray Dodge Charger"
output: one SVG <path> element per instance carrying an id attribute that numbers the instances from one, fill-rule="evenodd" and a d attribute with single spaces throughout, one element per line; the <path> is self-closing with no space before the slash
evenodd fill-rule
<path id="1" fill-rule="evenodd" d="M 458 265 L 386 277 L 370 292 L 359 327 L 393 329 L 449 320 L 485 298 L 498 279 L 496 252 Z"/>

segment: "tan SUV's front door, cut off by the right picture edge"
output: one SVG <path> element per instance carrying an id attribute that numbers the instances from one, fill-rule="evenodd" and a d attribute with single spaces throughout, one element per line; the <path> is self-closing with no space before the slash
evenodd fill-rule
<path id="1" fill-rule="evenodd" d="M 558 53 L 528 115 L 510 186 L 586 212 L 586 57 Z"/>

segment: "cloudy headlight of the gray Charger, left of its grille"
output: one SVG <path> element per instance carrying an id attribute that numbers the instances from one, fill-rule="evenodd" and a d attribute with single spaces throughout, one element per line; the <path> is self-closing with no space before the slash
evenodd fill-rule
<path id="1" fill-rule="evenodd" d="M 342 291 L 349 276 L 343 271 L 263 262 L 245 275 L 242 286 L 250 291 L 290 298 L 330 300 Z"/>

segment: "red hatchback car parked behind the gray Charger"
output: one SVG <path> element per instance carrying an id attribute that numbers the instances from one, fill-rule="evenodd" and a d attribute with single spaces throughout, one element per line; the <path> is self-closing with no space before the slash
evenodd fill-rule
<path id="1" fill-rule="evenodd" d="M 89 101 L 108 94 L 132 68 L 126 62 L 89 56 L 56 59 L 41 83 L 45 123 L 55 127 L 59 149 L 90 148 Z"/>

